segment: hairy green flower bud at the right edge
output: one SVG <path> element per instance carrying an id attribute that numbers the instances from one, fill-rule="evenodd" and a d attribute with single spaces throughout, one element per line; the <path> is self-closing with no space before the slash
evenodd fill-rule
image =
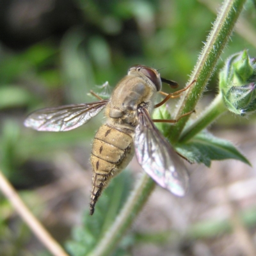
<path id="1" fill-rule="evenodd" d="M 229 111 L 244 116 L 256 110 L 256 59 L 247 51 L 228 58 L 220 72 L 220 92 Z"/>

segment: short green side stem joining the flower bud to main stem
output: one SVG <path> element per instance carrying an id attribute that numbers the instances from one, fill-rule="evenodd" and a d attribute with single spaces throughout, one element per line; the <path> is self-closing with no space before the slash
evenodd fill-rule
<path id="1" fill-rule="evenodd" d="M 179 142 L 186 142 L 193 138 L 198 132 L 205 129 L 212 122 L 214 122 L 221 114 L 225 113 L 227 108 L 223 102 L 222 95 L 219 93 L 211 102 L 209 108 L 199 116 L 199 118 L 184 129 L 180 136 Z"/>

